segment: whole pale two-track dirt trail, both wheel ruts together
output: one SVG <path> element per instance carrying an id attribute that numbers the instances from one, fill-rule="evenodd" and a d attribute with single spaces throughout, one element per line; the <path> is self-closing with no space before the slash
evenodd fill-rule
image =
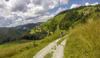
<path id="1" fill-rule="evenodd" d="M 68 36 L 68 35 L 66 35 Z M 64 36 L 64 37 L 66 37 Z M 52 43 L 50 43 L 49 45 L 47 45 L 45 48 L 41 49 L 33 58 L 44 58 L 44 56 L 52 51 L 52 48 L 56 47 L 56 50 L 54 50 L 53 56 L 52 58 L 63 58 L 63 51 L 64 51 L 64 46 L 66 43 L 66 39 L 63 40 L 58 46 L 57 46 L 57 42 L 60 40 L 61 38 L 53 41 Z"/>

